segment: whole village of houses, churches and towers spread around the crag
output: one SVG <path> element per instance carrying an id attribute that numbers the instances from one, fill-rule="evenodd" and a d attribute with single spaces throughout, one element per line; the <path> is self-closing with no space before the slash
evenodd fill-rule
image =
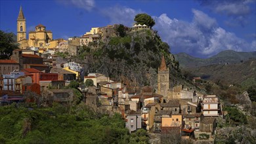
<path id="1" fill-rule="evenodd" d="M 160 143 L 159 135 L 169 139 L 169 134 L 178 134 L 191 141 L 207 139 L 213 142 L 217 118 L 224 117 L 220 99 L 183 85 L 171 86 L 171 69 L 165 56 L 161 56 L 158 63 L 157 88 L 142 86 L 139 90 L 128 88 L 125 82 L 112 81 L 102 73 L 89 71 L 88 60 L 81 62 L 60 56 L 66 53 L 77 56 L 80 46 L 116 37 L 117 27 L 92 27 L 81 37 L 70 37 L 66 41 L 53 39 L 54 33 L 38 24 L 26 39 L 26 18 L 20 7 L 17 19 L 20 48 L 13 50 L 11 60 L 0 60 L 0 105 L 26 102 L 51 107 L 53 103 L 77 101 L 77 91 L 65 87 L 79 81 L 84 83 L 77 86 L 83 95 L 80 100 L 95 113 L 119 113 L 130 133 L 147 130 L 156 136 L 150 139 L 152 143 Z M 125 29 L 155 33 L 151 27 L 140 24 Z"/>

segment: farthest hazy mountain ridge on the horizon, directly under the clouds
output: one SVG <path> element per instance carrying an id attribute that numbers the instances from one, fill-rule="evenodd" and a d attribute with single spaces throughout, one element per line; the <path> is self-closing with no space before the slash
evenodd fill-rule
<path id="1" fill-rule="evenodd" d="M 174 54 L 179 61 L 180 67 L 202 67 L 205 65 L 216 65 L 225 63 L 241 63 L 251 58 L 256 58 L 256 52 L 236 52 L 234 50 L 224 50 L 211 58 L 194 58 L 184 52 Z"/>

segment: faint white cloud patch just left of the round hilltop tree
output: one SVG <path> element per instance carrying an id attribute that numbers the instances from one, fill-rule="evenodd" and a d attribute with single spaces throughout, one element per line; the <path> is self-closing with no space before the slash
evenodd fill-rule
<path id="1" fill-rule="evenodd" d="M 115 7 L 103 9 L 101 12 L 104 16 L 110 19 L 110 24 L 133 26 L 135 15 L 141 13 L 141 10 L 116 5 Z"/>

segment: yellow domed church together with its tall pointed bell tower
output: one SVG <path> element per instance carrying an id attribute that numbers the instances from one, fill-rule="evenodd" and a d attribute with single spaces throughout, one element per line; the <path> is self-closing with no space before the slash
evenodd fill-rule
<path id="1" fill-rule="evenodd" d="M 46 27 L 42 24 L 35 26 L 35 31 L 28 33 L 28 39 L 26 37 L 26 18 L 23 14 L 22 7 L 20 6 L 20 12 L 17 18 L 17 43 L 22 49 L 28 47 L 44 48 L 47 43 L 53 41 L 52 31 L 47 31 Z"/>

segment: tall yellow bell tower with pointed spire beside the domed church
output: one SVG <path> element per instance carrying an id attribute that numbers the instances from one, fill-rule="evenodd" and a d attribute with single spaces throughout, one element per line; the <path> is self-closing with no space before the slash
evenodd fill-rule
<path id="1" fill-rule="evenodd" d="M 17 42 L 26 39 L 26 19 L 24 17 L 22 7 L 17 18 Z"/>

